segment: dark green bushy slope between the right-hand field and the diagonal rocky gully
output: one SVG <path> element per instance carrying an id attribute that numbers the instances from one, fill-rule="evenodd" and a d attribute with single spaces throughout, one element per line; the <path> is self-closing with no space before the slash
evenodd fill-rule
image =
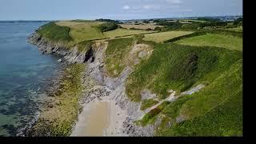
<path id="1" fill-rule="evenodd" d="M 166 98 L 199 83 L 213 82 L 219 74 L 242 58 L 242 52 L 216 47 L 157 44 L 151 57 L 141 62 L 126 81 L 126 94 L 138 102 L 143 89 Z"/>

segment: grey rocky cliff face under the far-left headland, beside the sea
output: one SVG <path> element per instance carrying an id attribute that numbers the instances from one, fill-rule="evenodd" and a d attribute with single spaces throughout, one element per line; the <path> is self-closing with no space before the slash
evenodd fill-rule
<path id="1" fill-rule="evenodd" d="M 70 63 L 82 63 L 82 62 L 93 62 L 94 61 L 94 47 L 90 46 L 89 50 L 79 51 L 77 46 L 66 47 L 58 42 L 50 42 L 42 35 L 34 33 L 27 41 L 42 51 L 42 54 L 59 54 Z"/>

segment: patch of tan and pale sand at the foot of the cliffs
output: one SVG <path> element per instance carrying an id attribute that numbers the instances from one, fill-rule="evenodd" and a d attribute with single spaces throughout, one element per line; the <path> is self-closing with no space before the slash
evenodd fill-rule
<path id="1" fill-rule="evenodd" d="M 124 115 L 108 97 L 84 104 L 70 136 L 124 136 L 121 134 Z"/>

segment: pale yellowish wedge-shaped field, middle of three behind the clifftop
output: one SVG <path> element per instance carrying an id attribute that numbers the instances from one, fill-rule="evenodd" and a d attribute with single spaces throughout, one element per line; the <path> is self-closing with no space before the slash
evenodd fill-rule
<path id="1" fill-rule="evenodd" d="M 155 34 L 145 34 L 145 41 L 154 41 L 154 42 L 164 42 L 171 38 L 180 37 L 186 34 L 192 34 L 191 31 L 167 31 L 162 33 L 155 33 Z"/>

